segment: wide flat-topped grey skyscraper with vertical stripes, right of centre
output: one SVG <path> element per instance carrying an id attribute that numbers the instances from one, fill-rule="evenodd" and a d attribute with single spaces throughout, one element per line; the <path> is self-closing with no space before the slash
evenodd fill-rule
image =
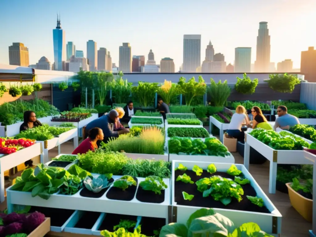
<path id="1" fill-rule="evenodd" d="M 183 37 L 183 69 L 196 72 L 201 66 L 201 35 L 185 34 Z"/>

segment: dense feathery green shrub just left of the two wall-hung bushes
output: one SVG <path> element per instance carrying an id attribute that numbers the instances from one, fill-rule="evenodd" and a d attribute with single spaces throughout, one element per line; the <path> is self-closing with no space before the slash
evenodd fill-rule
<path id="1" fill-rule="evenodd" d="M 207 87 L 207 96 L 210 98 L 211 105 L 223 107 L 231 93 L 231 88 L 227 80 L 223 83 L 219 80 L 217 83 L 211 78 L 211 84 Z"/>

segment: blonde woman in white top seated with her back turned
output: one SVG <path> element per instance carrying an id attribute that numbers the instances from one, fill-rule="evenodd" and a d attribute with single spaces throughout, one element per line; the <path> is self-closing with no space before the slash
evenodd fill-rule
<path id="1" fill-rule="evenodd" d="M 243 124 L 249 125 L 249 118 L 245 107 L 239 105 L 237 106 L 236 112 L 233 114 L 228 130 L 226 131 L 228 136 L 237 138 L 238 141 L 244 141 L 245 132 L 241 131 Z"/>

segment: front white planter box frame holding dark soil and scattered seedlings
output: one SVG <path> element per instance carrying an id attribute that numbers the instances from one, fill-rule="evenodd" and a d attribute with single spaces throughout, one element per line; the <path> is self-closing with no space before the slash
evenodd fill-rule
<path id="1" fill-rule="evenodd" d="M 179 163 L 183 164 L 188 169 L 192 169 L 194 165 L 199 166 L 200 168 L 207 170 L 207 167 L 210 165 L 210 162 L 196 162 L 196 161 L 172 161 L 172 191 L 171 191 L 171 205 L 173 206 L 173 216 L 176 209 L 176 216 L 173 222 L 186 223 L 190 215 L 196 210 L 201 209 L 201 207 L 192 207 L 178 205 L 174 200 L 174 182 L 177 177 L 175 177 L 174 169 L 179 166 Z M 232 165 L 231 163 L 214 163 L 217 168 L 217 171 L 226 172 L 228 168 Z M 236 167 L 242 171 L 247 179 L 250 180 L 252 187 L 257 192 L 257 196 L 261 197 L 264 200 L 264 204 L 267 209 L 271 212 L 268 213 L 259 213 L 259 212 L 250 212 L 250 211 L 239 211 L 232 209 L 220 209 L 214 208 L 214 210 L 234 222 L 236 226 L 240 226 L 246 222 L 255 222 L 257 223 L 261 230 L 270 233 L 270 234 L 280 234 L 281 233 L 281 213 L 276 209 L 270 199 L 265 195 L 264 191 L 260 188 L 258 183 L 253 179 L 251 174 L 248 172 L 245 166 L 241 164 L 235 164 Z M 211 207 L 210 207 L 211 208 Z M 273 227 L 274 226 L 274 227 Z M 275 230 L 275 231 L 273 231 Z M 276 233 L 273 233 L 276 232 Z"/>

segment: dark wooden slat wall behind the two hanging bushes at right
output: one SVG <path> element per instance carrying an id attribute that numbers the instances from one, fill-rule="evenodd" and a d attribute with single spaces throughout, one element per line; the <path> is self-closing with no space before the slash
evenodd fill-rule
<path id="1" fill-rule="evenodd" d="M 228 101 L 235 100 L 258 100 L 258 101 L 270 101 L 270 100 L 292 100 L 292 101 L 300 101 L 301 95 L 301 85 L 296 85 L 295 89 L 292 93 L 280 93 L 272 90 L 268 83 L 259 83 L 256 87 L 256 91 L 254 94 L 240 94 L 234 89 L 234 84 L 229 83 L 229 85 L 233 88 L 232 93 L 228 97 Z M 314 94 L 315 94 L 315 90 Z"/>

